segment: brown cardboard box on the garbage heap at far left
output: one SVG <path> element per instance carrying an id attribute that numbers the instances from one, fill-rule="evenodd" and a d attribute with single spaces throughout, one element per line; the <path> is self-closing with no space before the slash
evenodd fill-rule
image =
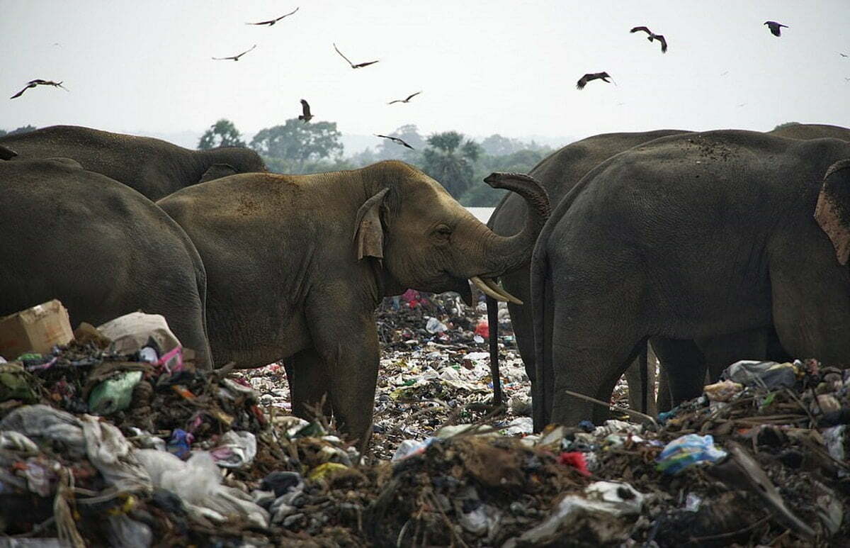
<path id="1" fill-rule="evenodd" d="M 48 353 L 73 338 L 68 311 L 59 300 L 0 318 L 0 356 L 9 361 L 26 352 Z"/>

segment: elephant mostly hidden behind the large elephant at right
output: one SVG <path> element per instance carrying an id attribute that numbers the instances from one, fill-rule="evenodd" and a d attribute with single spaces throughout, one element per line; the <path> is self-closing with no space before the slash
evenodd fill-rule
<path id="1" fill-rule="evenodd" d="M 541 186 L 546 188 L 549 193 L 549 201 L 554 205 L 561 201 L 561 198 L 581 180 L 581 177 L 609 157 L 626 151 L 632 148 L 632 146 L 659 139 L 660 137 L 683 133 L 686 132 L 680 129 L 659 129 L 657 131 L 594 135 L 553 152 L 553 154 L 544 158 L 532 168 L 529 174 Z M 514 194 L 508 194 L 496 206 L 496 209 L 490 215 L 487 225 L 496 234 L 504 236 L 516 234 L 522 230 L 528 211 L 529 209 L 525 205 L 524 200 Z M 511 324 L 513 326 L 513 332 L 516 335 L 519 353 L 523 357 L 525 372 L 528 374 L 531 383 L 534 384 L 536 367 L 534 361 L 533 316 L 530 306 L 529 265 L 526 263 L 519 270 L 502 275 L 501 283 L 510 294 L 513 294 L 524 302 L 524 305 L 509 303 L 507 306 L 511 314 Z M 493 305 L 494 301 L 488 298 L 488 306 L 492 307 Z M 496 323 L 491 323 L 491 338 L 493 337 L 495 328 Z M 654 377 L 655 360 L 650 359 L 649 364 L 652 371 L 648 377 Z M 629 368 L 626 371 L 626 379 L 629 382 L 629 397 L 632 408 L 642 408 L 639 398 L 639 395 L 643 393 L 643 390 L 640 389 L 639 360 L 635 362 L 635 367 Z M 649 398 L 648 403 L 649 413 L 655 413 L 654 398 Z"/>

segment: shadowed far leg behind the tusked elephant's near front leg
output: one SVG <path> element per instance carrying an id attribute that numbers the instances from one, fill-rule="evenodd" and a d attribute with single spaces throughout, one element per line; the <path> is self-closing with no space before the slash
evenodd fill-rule
<path id="1" fill-rule="evenodd" d="M 327 391 L 331 386 L 324 360 L 318 352 L 309 348 L 287 358 L 284 364 L 289 390 L 292 395 L 292 414 L 303 420 L 313 420 L 319 410 L 331 418 L 331 399 Z M 322 398 L 325 398 L 322 405 Z M 322 406 L 321 408 L 320 405 Z"/>

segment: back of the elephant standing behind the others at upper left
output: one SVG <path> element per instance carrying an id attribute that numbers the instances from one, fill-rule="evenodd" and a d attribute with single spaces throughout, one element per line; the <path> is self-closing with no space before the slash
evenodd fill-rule
<path id="1" fill-rule="evenodd" d="M 0 137 L 13 160 L 68 157 L 158 200 L 184 186 L 231 174 L 266 171 L 257 152 L 241 147 L 191 151 L 164 140 L 79 126 L 51 126 Z"/>

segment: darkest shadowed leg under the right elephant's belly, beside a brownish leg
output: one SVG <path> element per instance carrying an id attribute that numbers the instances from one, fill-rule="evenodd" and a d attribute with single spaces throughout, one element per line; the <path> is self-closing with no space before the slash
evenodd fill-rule
<path id="1" fill-rule="evenodd" d="M 659 382 L 659 411 L 668 410 L 662 397 L 666 383 L 670 395 L 669 408 L 694 397 L 700 397 L 706 379 L 706 357 L 693 340 L 675 340 L 655 337 L 652 340 L 655 354 L 661 363 L 662 380 Z M 662 405 L 663 404 L 663 405 Z"/>

